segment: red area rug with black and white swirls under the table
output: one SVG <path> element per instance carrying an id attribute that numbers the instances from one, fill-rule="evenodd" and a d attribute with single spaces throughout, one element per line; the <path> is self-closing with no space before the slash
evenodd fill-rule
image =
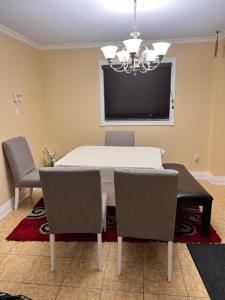
<path id="1" fill-rule="evenodd" d="M 221 238 L 211 227 L 208 237 L 201 236 L 201 212 L 198 207 L 186 207 L 180 217 L 180 234 L 174 237 L 174 242 L 180 243 L 221 243 Z M 24 218 L 6 238 L 9 241 L 48 241 L 48 222 L 44 201 L 41 199 L 32 212 Z M 59 234 L 57 241 L 96 241 L 95 234 Z M 115 207 L 107 208 L 107 231 L 103 232 L 104 242 L 117 240 Z M 126 239 L 134 242 L 137 239 Z"/>

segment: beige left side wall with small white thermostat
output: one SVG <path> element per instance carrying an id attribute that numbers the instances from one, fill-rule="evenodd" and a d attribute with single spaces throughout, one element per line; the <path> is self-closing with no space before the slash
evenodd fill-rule
<path id="1" fill-rule="evenodd" d="M 44 143 L 43 89 L 40 52 L 0 34 L 0 143 L 23 135 L 28 139 L 36 163 Z M 23 102 L 15 114 L 12 94 L 21 91 Z M 0 205 L 13 196 L 8 166 L 0 153 Z"/>

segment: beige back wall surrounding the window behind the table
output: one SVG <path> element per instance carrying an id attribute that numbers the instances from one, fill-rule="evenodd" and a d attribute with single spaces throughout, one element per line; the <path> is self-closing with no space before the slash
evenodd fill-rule
<path id="1" fill-rule="evenodd" d="M 49 145 L 61 156 L 77 145 L 103 144 L 106 130 L 132 129 L 137 145 L 160 146 L 167 161 L 208 170 L 213 44 L 174 44 L 168 57 L 177 58 L 175 126 L 100 127 L 100 50 L 43 51 Z"/>

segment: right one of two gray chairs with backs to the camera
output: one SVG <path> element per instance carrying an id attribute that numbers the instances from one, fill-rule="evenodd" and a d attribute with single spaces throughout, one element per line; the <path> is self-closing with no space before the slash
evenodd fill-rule
<path id="1" fill-rule="evenodd" d="M 168 280 L 171 280 L 177 182 L 178 172 L 174 170 L 115 171 L 118 274 L 121 273 L 122 237 L 163 240 L 168 241 Z"/>

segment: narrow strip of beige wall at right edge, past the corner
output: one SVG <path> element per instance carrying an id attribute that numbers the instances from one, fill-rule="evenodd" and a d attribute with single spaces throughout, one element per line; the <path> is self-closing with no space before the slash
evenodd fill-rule
<path id="1" fill-rule="evenodd" d="M 225 40 L 219 44 L 214 74 L 210 170 L 225 176 Z"/>

